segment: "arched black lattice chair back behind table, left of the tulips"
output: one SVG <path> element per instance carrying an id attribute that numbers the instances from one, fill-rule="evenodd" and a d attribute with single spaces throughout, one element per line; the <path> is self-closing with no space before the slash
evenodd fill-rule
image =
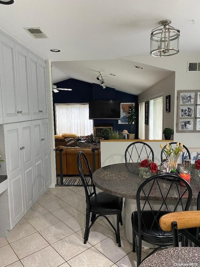
<path id="1" fill-rule="evenodd" d="M 154 161 L 154 153 L 151 146 L 142 141 L 131 143 L 125 151 L 125 162 L 141 162 L 144 159 Z"/>

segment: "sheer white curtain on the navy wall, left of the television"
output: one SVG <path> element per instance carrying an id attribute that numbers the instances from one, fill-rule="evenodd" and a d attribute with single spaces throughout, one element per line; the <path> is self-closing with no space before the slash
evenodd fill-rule
<path id="1" fill-rule="evenodd" d="M 74 133 L 78 136 L 93 132 L 93 120 L 89 120 L 89 105 L 55 105 L 56 133 Z"/>

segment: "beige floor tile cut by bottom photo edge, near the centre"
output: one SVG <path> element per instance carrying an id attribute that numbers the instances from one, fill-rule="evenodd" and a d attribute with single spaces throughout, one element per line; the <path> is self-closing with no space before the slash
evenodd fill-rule
<path id="1" fill-rule="evenodd" d="M 95 266 L 95 267 L 110 267 L 113 262 L 102 255 L 94 247 L 82 252 L 73 259 L 70 259 L 68 263 L 72 267 L 79 267 L 81 262 L 81 267 Z"/>

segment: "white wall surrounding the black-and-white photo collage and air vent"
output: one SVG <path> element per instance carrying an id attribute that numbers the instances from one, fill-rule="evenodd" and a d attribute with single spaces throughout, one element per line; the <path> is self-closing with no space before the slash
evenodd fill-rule
<path id="1" fill-rule="evenodd" d="M 181 51 L 181 48 L 180 48 Z M 200 73 L 187 73 L 187 61 L 200 61 L 200 54 L 183 55 L 181 52 L 169 57 L 127 57 L 138 63 L 149 64 L 155 67 L 173 70 L 175 77 L 175 103 L 174 103 L 174 141 L 183 142 L 188 147 L 200 147 L 199 133 L 177 133 L 177 100 L 178 90 L 200 90 Z M 166 95 L 167 89 L 165 89 Z"/>

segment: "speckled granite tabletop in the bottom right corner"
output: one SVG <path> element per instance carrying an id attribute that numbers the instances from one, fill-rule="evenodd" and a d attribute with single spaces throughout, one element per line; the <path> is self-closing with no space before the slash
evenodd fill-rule
<path id="1" fill-rule="evenodd" d="M 145 259 L 139 267 L 199 266 L 200 248 L 170 248 L 156 252 Z"/>

